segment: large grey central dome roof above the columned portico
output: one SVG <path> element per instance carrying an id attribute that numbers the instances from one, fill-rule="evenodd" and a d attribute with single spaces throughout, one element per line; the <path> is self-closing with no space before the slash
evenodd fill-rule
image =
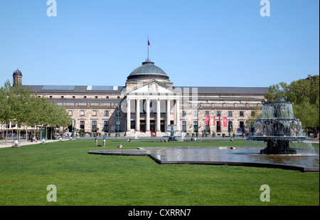
<path id="1" fill-rule="evenodd" d="M 132 79 L 142 79 L 142 78 L 159 78 L 164 80 L 169 80 L 169 76 L 166 75 L 164 70 L 154 65 L 154 62 L 145 61 L 142 66 L 135 68 L 130 75 L 128 80 Z"/>

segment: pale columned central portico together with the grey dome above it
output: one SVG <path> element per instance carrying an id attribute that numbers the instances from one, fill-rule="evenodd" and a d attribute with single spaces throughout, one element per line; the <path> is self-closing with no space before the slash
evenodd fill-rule
<path id="1" fill-rule="evenodd" d="M 127 134 L 137 132 L 140 136 L 149 136 L 156 132 L 161 137 L 171 120 L 175 120 L 180 130 L 177 101 L 180 93 L 173 88 L 164 70 L 153 62 L 148 60 L 135 68 L 127 78 L 125 90 L 127 100 L 134 100 L 127 105 Z"/>

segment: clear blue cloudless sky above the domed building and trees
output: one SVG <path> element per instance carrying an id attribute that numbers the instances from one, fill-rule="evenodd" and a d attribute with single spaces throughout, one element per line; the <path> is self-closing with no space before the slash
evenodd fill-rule
<path id="1" fill-rule="evenodd" d="M 0 0 L 0 85 L 124 85 L 147 57 L 176 86 L 319 74 L 319 0 Z"/>

